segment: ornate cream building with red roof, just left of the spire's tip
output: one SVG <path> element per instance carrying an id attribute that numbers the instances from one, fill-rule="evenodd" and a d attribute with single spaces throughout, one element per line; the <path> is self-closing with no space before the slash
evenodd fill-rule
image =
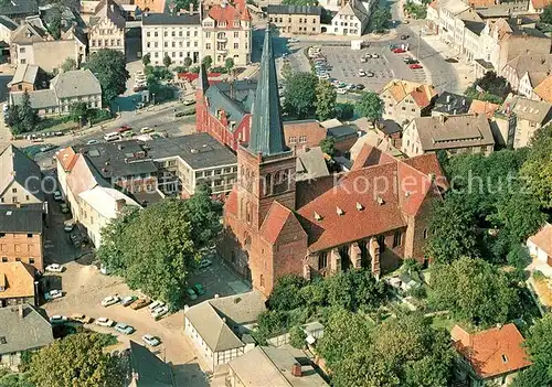
<path id="1" fill-rule="evenodd" d="M 222 0 L 209 9 L 201 24 L 202 57 L 210 55 L 214 66 L 224 66 L 227 57 L 233 58 L 236 66 L 251 62 L 253 24 L 245 0 L 234 3 Z"/>

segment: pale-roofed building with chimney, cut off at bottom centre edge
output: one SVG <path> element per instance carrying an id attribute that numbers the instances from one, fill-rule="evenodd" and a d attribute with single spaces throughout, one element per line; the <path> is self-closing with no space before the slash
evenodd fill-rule
<path id="1" fill-rule="evenodd" d="M 229 363 L 226 386 L 329 386 L 305 358 L 298 350 L 257 346 Z"/>

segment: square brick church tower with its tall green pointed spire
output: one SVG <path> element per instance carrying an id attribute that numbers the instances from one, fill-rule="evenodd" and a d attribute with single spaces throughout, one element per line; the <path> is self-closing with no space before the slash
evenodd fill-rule
<path id="1" fill-rule="evenodd" d="M 250 142 L 237 150 L 237 216 L 258 232 L 274 201 L 295 209 L 296 155 L 285 144 L 273 43 L 267 25 Z"/>

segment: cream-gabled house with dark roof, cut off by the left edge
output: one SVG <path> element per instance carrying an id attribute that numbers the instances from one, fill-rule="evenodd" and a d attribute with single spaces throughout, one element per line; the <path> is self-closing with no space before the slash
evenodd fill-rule
<path id="1" fill-rule="evenodd" d="M 42 204 L 42 172 L 13 144 L 0 152 L 0 207 L 4 204 Z"/>

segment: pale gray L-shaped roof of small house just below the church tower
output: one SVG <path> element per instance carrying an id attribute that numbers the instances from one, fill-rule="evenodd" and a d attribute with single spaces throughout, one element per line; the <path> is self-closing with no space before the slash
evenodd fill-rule
<path id="1" fill-rule="evenodd" d="M 229 324 L 237 327 L 253 323 L 265 310 L 263 295 L 252 291 L 203 301 L 185 310 L 184 314 L 211 351 L 220 352 L 244 345 Z"/>

